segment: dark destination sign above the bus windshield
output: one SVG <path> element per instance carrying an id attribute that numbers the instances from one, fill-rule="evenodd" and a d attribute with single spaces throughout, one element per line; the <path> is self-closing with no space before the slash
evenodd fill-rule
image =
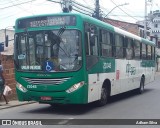
<path id="1" fill-rule="evenodd" d="M 18 28 L 44 27 L 44 26 L 75 26 L 75 16 L 41 16 L 28 19 L 20 19 Z"/>

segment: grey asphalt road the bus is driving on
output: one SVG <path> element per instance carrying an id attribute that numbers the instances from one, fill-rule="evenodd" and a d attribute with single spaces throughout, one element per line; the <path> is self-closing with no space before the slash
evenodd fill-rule
<path id="1" fill-rule="evenodd" d="M 111 97 L 109 103 L 103 107 L 95 104 L 73 105 L 54 108 L 46 104 L 29 104 L 19 107 L 3 109 L 0 119 L 60 119 L 59 125 L 37 126 L 56 128 L 75 128 L 84 125 L 63 125 L 73 119 L 159 119 L 160 120 L 160 76 L 145 86 L 143 94 L 133 92 Z M 126 120 L 128 121 L 128 120 Z M 76 123 L 76 122 L 75 122 Z M 62 125 L 60 125 L 62 124 Z M 2 127 L 2 126 L 0 126 Z M 12 126 L 19 127 L 19 126 Z M 35 128 L 35 126 L 33 126 Z M 158 128 L 160 125 L 85 125 L 86 128 Z"/>

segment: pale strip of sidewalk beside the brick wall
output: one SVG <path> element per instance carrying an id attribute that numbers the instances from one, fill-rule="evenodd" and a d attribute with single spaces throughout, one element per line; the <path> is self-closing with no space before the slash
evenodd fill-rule
<path id="1" fill-rule="evenodd" d="M 35 102 L 34 101 L 19 102 L 18 100 L 11 100 L 8 102 L 8 104 L 6 104 L 6 102 L 0 101 L 0 110 L 6 109 L 6 108 L 11 108 L 11 107 L 17 107 L 17 106 L 21 106 L 21 105 L 26 105 L 26 104 L 32 104 L 32 103 L 35 103 Z"/>

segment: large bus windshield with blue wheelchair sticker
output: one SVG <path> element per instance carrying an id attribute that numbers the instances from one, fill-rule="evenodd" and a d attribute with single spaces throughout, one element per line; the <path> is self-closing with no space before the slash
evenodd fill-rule
<path id="1" fill-rule="evenodd" d="M 47 30 L 16 34 L 15 64 L 18 70 L 61 72 L 82 65 L 78 30 Z"/>

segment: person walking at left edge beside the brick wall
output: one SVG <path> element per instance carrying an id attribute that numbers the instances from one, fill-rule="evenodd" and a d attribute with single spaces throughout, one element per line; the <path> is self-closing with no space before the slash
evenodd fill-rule
<path id="1" fill-rule="evenodd" d="M 3 97 L 6 104 L 8 104 L 8 100 L 7 100 L 6 96 L 3 94 L 4 88 L 5 88 L 5 79 L 3 76 L 3 66 L 2 66 L 1 60 L 0 60 L 0 99 Z"/>

